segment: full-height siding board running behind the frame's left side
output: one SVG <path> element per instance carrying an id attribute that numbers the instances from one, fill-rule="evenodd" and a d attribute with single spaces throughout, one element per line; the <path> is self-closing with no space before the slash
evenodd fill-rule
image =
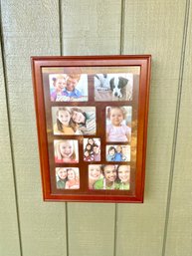
<path id="1" fill-rule="evenodd" d="M 58 1 L 6 0 L 1 8 L 23 255 L 64 256 L 65 204 L 43 202 L 30 63 L 60 54 Z"/>

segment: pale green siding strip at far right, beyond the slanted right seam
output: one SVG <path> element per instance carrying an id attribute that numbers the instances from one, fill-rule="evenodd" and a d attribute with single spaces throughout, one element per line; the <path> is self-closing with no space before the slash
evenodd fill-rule
<path id="1" fill-rule="evenodd" d="M 192 255 L 192 6 L 190 6 L 183 87 L 171 193 L 166 256 Z"/>

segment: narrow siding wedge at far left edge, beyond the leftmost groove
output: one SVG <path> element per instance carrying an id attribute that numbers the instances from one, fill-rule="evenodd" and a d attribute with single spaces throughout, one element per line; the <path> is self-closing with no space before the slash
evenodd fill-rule
<path id="1" fill-rule="evenodd" d="M 1 51 L 0 47 L 0 255 L 19 256 L 15 184 Z"/>

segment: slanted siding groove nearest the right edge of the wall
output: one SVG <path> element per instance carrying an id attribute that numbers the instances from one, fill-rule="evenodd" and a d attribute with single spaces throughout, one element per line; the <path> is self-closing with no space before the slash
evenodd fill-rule
<path id="1" fill-rule="evenodd" d="M 186 0 L 180 68 L 179 68 L 177 102 L 176 102 L 175 122 L 174 122 L 174 131 L 173 131 L 171 164 L 170 164 L 168 191 L 167 191 L 167 205 L 166 205 L 165 223 L 164 223 L 164 236 L 163 236 L 163 244 L 162 244 L 162 256 L 166 255 L 167 233 L 168 233 L 171 195 L 172 195 L 173 177 L 174 177 L 174 169 L 175 169 L 177 135 L 178 135 L 178 128 L 179 128 L 179 115 L 180 115 L 182 88 L 183 88 L 183 74 L 184 74 L 184 66 L 185 66 L 185 52 L 186 52 L 187 33 L 188 33 L 188 24 L 189 24 L 189 10 L 190 10 L 190 0 Z"/>

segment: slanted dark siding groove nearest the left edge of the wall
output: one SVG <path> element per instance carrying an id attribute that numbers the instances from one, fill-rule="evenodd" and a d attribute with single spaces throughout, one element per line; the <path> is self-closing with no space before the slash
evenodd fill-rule
<path id="1" fill-rule="evenodd" d="M 19 213 L 19 200 L 18 200 L 18 188 L 17 188 L 16 166 L 15 166 L 15 156 L 14 156 L 14 146 L 13 146 L 13 134 L 12 134 L 12 130 L 11 130 L 11 115 L 10 115 L 11 111 L 10 111 L 10 102 L 9 102 L 8 76 L 7 76 L 7 69 L 6 69 L 6 54 L 5 54 L 3 21 L 2 21 L 2 2 L 0 2 L 0 29 L 1 29 L 0 36 L 1 36 L 2 68 L 3 68 L 4 85 L 5 85 L 5 101 L 6 101 L 6 108 L 7 108 L 8 133 L 9 133 L 9 141 L 10 141 L 10 151 L 11 151 L 12 170 L 13 170 L 13 183 L 14 183 L 14 191 L 15 191 L 15 207 L 16 207 L 16 215 L 17 215 L 19 249 L 20 249 L 20 255 L 23 256 L 20 213 Z"/>

